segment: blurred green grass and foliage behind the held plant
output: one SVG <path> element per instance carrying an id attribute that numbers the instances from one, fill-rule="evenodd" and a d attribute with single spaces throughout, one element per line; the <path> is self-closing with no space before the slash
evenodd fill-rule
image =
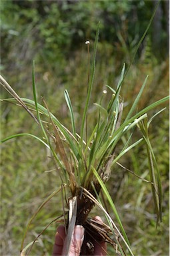
<path id="1" fill-rule="evenodd" d="M 128 67 L 157 1 L 1 1 L 1 74 L 20 97 L 33 99 L 31 72 L 39 102 L 45 97 L 50 111 L 68 128 L 69 111 L 63 91 L 67 89 L 75 111 L 77 131 L 87 92 L 88 57 L 91 55 L 97 23 L 101 29 L 97 49 L 95 84 L 90 121 L 95 122 L 93 102 L 105 85 L 115 89 L 123 63 Z M 123 82 L 124 115 L 149 79 L 139 109 L 169 93 L 169 1 L 161 1 L 155 19 L 139 47 Z M 1 89 L 1 98 L 10 97 Z M 149 117 L 159 109 L 149 113 Z M 1 103 L 1 137 L 41 131 L 20 107 Z M 135 133 L 136 138 L 139 137 Z M 135 139 L 135 138 L 134 138 Z M 150 139 L 161 172 L 163 223 L 156 229 L 151 189 L 117 165 L 107 184 L 121 216 L 133 253 L 169 255 L 169 117 L 157 116 L 150 127 Z M 117 148 L 119 150 L 119 147 Z M 121 164 L 149 179 L 144 147 L 133 149 Z M 23 232 L 39 205 L 60 185 L 49 152 L 33 138 L 21 137 L 1 145 L 1 255 L 19 255 Z M 96 209 L 97 211 L 97 209 Z M 31 242 L 55 217 L 61 215 L 61 194 L 45 205 L 31 224 L 26 243 Z M 95 209 L 93 214 L 95 215 Z M 98 213 L 99 214 L 99 213 Z M 102 216 L 101 216 L 102 217 Z M 115 220 L 113 216 L 113 220 Z M 57 225 L 51 225 L 39 238 L 30 255 L 51 255 Z M 109 247 L 108 247 L 109 248 Z M 109 249 L 111 253 L 111 249 Z M 112 254 L 112 253 L 111 253 Z M 114 255 L 114 253 L 113 253 Z"/>

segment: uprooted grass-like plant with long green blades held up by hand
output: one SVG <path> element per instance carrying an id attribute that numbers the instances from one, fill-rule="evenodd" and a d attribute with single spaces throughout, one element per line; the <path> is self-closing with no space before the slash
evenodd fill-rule
<path id="1" fill-rule="evenodd" d="M 85 107 L 81 122 L 80 133 L 77 133 L 75 123 L 75 115 L 69 97 L 69 93 L 65 90 L 65 100 L 69 109 L 71 118 L 71 131 L 63 125 L 51 112 L 47 103 L 43 99 L 43 105 L 37 102 L 37 88 L 35 85 L 35 65 L 33 63 L 33 100 L 19 97 L 11 86 L 0 77 L 0 83 L 9 93 L 13 96 L 12 99 L 3 99 L 9 102 L 18 102 L 28 113 L 33 117 L 38 127 L 43 131 L 43 138 L 37 137 L 30 133 L 19 133 L 11 135 L 2 140 L 5 142 L 9 139 L 19 136 L 31 136 L 38 139 L 51 151 L 52 159 L 56 166 L 56 171 L 59 173 L 61 179 L 61 187 L 53 192 L 47 199 L 39 206 L 35 214 L 31 217 L 21 243 L 21 255 L 28 255 L 29 251 L 35 241 L 32 241 L 23 248 L 27 231 L 31 222 L 36 217 L 37 213 L 41 211 L 42 207 L 52 197 L 61 191 L 63 198 L 63 215 L 62 218 L 65 223 L 65 230 L 67 237 L 65 241 L 65 255 L 69 253 L 71 242 L 71 235 L 75 225 L 83 225 L 85 227 L 85 241 L 81 249 L 81 255 L 91 254 L 93 252 L 92 238 L 96 237 L 97 241 L 105 240 L 110 243 L 115 249 L 117 255 L 133 255 L 129 240 L 123 229 L 121 218 L 115 208 L 113 199 L 109 195 L 109 191 L 105 183 L 109 180 L 113 165 L 116 165 L 121 157 L 129 150 L 141 143 L 145 143 L 147 148 L 147 157 L 149 160 L 151 190 L 153 194 L 153 201 L 155 205 L 155 212 L 157 214 L 157 223 L 161 221 L 161 201 L 162 189 L 161 178 L 157 162 L 151 143 L 149 141 L 149 124 L 153 117 L 148 120 L 147 113 L 165 103 L 169 97 L 164 97 L 159 101 L 145 107 L 137 112 L 137 103 L 142 95 L 143 89 L 147 83 L 147 77 L 139 91 L 129 113 L 123 117 L 123 100 L 121 99 L 121 87 L 125 78 L 125 64 L 121 70 L 121 75 L 117 88 L 113 89 L 107 86 L 107 90 L 103 91 L 103 95 L 99 103 L 95 103 L 97 109 L 97 121 L 89 134 L 88 129 L 88 108 L 91 98 L 91 91 L 93 88 L 93 81 L 95 77 L 95 59 L 97 53 L 97 42 L 99 37 L 99 25 L 94 45 L 93 61 L 91 63 L 91 71 L 89 71 L 87 97 L 85 99 Z M 108 102 L 105 101 L 105 93 L 110 95 Z M 163 109 L 161 109 L 163 111 Z M 157 114 L 159 114 L 159 111 Z M 134 114 L 135 113 L 135 114 Z M 157 115 L 156 114 L 156 115 Z M 79 127 L 78 127 L 79 128 Z M 141 131 L 141 139 L 131 144 L 131 137 L 135 128 Z M 117 152 L 117 144 L 128 135 L 129 139 L 124 143 L 123 148 Z M 123 139 L 123 141 L 125 141 Z M 134 173 L 135 175 L 135 173 Z M 140 177 L 139 177 L 140 178 Z M 99 197 L 102 193 L 103 197 Z M 105 201 L 108 201 L 115 219 L 117 220 L 118 227 L 111 218 L 105 207 Z M 101 224 L 89 217 L 89 213 L 93 207 L 99 207 L 105 214 L 107 225 Z M 67 211 L 65 210 L 67 208 Z M 57 218 L 57 219 L 59 219 Z M 57 219 L 53 220 L 57 221 Z M 49 225 L 51 225 L 49 223 Z M 49 226 L 48 225 L 48 226 Z M 47 227 L 46 227 L 47 228 Z M 42 232 L 43 233 L 43 232 Z M 41 234 L 39 234 L 41 235 Z"/>

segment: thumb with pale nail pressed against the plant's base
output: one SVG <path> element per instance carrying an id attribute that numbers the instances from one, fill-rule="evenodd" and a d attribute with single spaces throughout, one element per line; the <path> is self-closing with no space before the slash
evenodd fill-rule
<path id="1" fill-rule="evenodd" d="M 79 256 L 81 245 L 84 240 L 85 229 L 81 225 L 76 225 L 71 239 L 69 256 Z"/>

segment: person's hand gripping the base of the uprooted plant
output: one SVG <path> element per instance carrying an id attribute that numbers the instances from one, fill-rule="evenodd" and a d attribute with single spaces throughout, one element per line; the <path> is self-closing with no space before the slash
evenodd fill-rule
<path id="1" fill-rule="evenodd" d="M 96 220 L 101 221 L 100 217 L 95 217 Z M 71 239 L 71 247 L 68 256 L 79 256 L 81 252 L 81 245 L 83 244 L 85 229 L 81 225 L 76 225 L 73 237 Z M 63 225 L 59 226 L 55 235 L 55 245 L 53 247 L 53 256 L 62 256 L 63 245 L 65 241 L 65 228 Z M 106 243 L 105 242 L 94 242 L 94 255 L 105 256 L 106 255 Z M 63 255 L 65 256 L 65 255 Z"/>

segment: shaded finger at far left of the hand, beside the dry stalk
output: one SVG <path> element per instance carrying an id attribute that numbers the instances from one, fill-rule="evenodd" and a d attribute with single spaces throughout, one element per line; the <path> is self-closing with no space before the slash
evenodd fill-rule
<path id="1" fill-rule="evenodd" d="M 60 256 L 62 254 L 64 241 L 65 241 L 65 227 L 61 225 L 57 228 L 57 233 L 55 235 L 53 256 Z"/>

